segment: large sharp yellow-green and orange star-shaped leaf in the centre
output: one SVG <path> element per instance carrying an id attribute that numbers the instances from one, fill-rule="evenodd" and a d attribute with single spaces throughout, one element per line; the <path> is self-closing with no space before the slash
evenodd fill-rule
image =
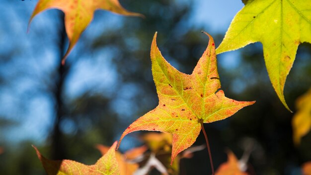
<path id="1" fill-rule="evenodd" d="M 191 75 L 179 72 L 161 55 L 156 34 L 151 46 L 152 72 L 158 106 L 133 122 L 122 134 L 139 130 L 173 134 L 171 164 L 198 137 L 201 124 L 223 120 L 255 101 L 236 101 L 220 90 L 213 38 Z M 119 142 L 119 144 L 120 144 Z M 119 145 L 118 145 L 119 146 Z"/>

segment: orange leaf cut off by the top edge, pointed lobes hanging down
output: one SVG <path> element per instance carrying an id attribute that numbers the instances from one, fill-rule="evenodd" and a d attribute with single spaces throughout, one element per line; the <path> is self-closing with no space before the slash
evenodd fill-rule
<path id="1" fill-rule="evenodd" d="M 62 64 L 78 42 L 81 33 L 93 19 L 96 9 L 109 10 L 122 15 L 143 16 L 127 11 L 118 0 L 39 0 L 30 17 L 28 28 L 35 15 L 49 8 L 57 8 L 65 13 L 65 27 L 70 43 Z"/>

